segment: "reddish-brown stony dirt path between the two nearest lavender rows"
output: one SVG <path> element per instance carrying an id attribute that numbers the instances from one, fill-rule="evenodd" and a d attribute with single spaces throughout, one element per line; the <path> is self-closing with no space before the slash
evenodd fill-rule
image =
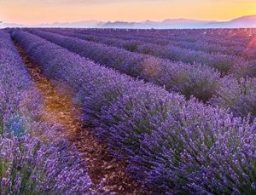
<path id="1" fill-rule="evenodd" d="M 67 138 L 78 147 L 87 164 L 88 173 L 95 184 L 104 178 L 104 189 L 115 194 L 147 194 L 142 187 L 125 173 L 125 163 L 116 161 L 108 154 L 107 146 L 99 141 L 89 129 L 84 129 L 78 119 L 78 109 L 73 106 L 69 95 L 59 94 L 55 86 L 44 77 L 42 70 L 26 54 L 20 43 L 15 42 L 32 80 L 44 96 L 44 120 L 61 123 Z"/>

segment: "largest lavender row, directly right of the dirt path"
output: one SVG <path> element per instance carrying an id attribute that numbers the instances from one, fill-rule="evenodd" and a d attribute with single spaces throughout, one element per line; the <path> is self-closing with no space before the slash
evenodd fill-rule
<path id="1" fill-rule="evenodd" d="M 149 83 L 73 54 L 43 38 L 15 32 L 49 78 L 76 92 L 84 123 L 125 158 L 155 193 L 256 192 L 255 123 L 184 100 Z"/>

